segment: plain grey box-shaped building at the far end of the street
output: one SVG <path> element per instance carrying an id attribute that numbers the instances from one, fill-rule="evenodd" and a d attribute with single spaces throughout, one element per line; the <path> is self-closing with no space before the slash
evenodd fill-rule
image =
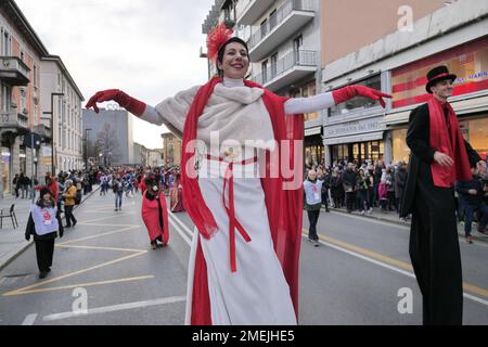
<path id="1" fill-rule="evenodd" d="M 82 110 L 82 126 L 90 163 L 104 166 L 134 164 L 133 117 L 125 110 Z"/>

